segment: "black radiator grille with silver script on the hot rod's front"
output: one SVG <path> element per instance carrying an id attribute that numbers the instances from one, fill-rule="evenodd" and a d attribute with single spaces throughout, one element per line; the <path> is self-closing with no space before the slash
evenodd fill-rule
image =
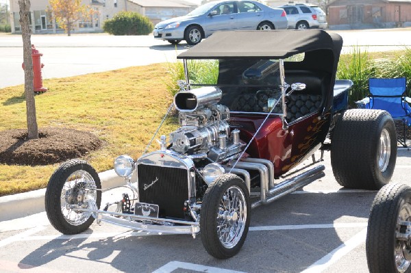
<path id="1" fill-rule="evenodd" d="M 184 218 L 188 170 L 139 164 L 137 171 L 140 202 L 158 205 L 160 218 Z"/>

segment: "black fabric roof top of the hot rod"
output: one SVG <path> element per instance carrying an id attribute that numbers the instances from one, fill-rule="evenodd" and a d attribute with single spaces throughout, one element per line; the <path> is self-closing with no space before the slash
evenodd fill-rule
<path id="1" fill-rule="evenodd" d="M 219 31 L 177 56 L 178 59 L 284 59 L 297 53 L 330 50 L 339 56 L 343 40 L 320 29 Z"/>

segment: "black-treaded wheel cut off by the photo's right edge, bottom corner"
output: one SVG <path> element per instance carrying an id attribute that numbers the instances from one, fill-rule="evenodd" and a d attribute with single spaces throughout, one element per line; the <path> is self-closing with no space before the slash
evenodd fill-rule
<path id="1" fill-rule="evenodd" d="M 366 259 L 371 273 L 411 272 L 410 240 L 398 236 L 406 233 L 405 224 L 410 221 L 411 188 L 399 183 L 382 187 L 371 206 L 366 233 Z"/>

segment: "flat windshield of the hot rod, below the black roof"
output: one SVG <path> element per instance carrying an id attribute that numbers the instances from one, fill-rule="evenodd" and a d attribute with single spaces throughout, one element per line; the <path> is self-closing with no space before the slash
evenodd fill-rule
<path id="1" fill-rule="evenodd" d="M 279 60 L 188 60 L 192 89 L 217 86 L 231 112 L 282 113 Z"/>

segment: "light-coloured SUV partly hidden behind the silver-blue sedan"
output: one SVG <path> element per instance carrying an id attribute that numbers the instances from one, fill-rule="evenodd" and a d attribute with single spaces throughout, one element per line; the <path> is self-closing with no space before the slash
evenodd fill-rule
<path id="1" fill-rule="evenodd" d="M 286 11 L 289 29 L 327 28 L 325 12 L 318 5 L 294 3 L 277 8 Z"/>

